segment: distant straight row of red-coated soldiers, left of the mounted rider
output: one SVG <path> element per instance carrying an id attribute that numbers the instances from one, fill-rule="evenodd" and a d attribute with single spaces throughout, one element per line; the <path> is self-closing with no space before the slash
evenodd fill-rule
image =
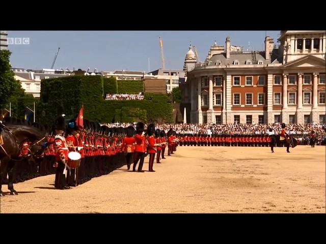
<path id="1" fill-rule="evenodd" d="M 180 146 L 268 146 L 271 138 L 266 135 L 207 135 L 179 134 Z"/>

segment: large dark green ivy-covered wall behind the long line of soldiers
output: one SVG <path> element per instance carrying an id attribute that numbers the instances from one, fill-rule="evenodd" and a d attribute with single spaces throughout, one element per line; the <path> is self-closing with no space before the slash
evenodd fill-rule
<path id="1" fill-rule="evenodd" d="M 84 117 L 101 123 L 131 119 L 172 121 L 171 99 L 164 94 L 145 94 L 145 100 L 105 101 L 102 97 L 103 90 L 107 93 L 108 89 L 114 89 L 115 84 L 115 78 L 101 76 L 68 76 L 42 80 L 37 114 L 44 111 L 45 116 L 37 116 L 38 121 L 51 125 L 62 113 L 69 119 L 78 113 L 83 104 Z"/>

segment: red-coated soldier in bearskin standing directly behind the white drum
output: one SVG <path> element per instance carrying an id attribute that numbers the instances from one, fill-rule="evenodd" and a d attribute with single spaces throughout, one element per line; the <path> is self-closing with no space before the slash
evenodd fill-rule
<path id="1" fill-rule="evenodd" d="M 78 147 L 78 140 L 79 140 L 79 129 L 74 121 L 71 119 L 68 121 L 67 126 L 67 137 L 66 142 L 68 144 L 68 150 L 70 151 L 78 151 L 80 147 Z M 69 161 L 69 158 L 68 158 Z M 67 168 L 67 185 L 70 187 L 74 187 L 76 184 L 76 170 Z"/>

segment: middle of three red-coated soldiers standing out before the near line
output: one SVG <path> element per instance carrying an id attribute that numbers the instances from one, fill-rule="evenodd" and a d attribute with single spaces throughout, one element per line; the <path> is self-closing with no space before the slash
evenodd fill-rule
<path id="1" fill-rule="evenodd" d="M 146 153 L 146 141 L 144 136 L 144 123 L 138 122 L 136 125 L 136 135 L 135 135 L 135 149 L 134 149 L 134 161 L 132 166 L 132 171 L 136 171 L 136 166 L 138 161 L 140 160 L 139 166 L 138 166 L 138 172 L 144 172 L 143 170 L 143 164 L 145 159 L 145 153 Z"/>

